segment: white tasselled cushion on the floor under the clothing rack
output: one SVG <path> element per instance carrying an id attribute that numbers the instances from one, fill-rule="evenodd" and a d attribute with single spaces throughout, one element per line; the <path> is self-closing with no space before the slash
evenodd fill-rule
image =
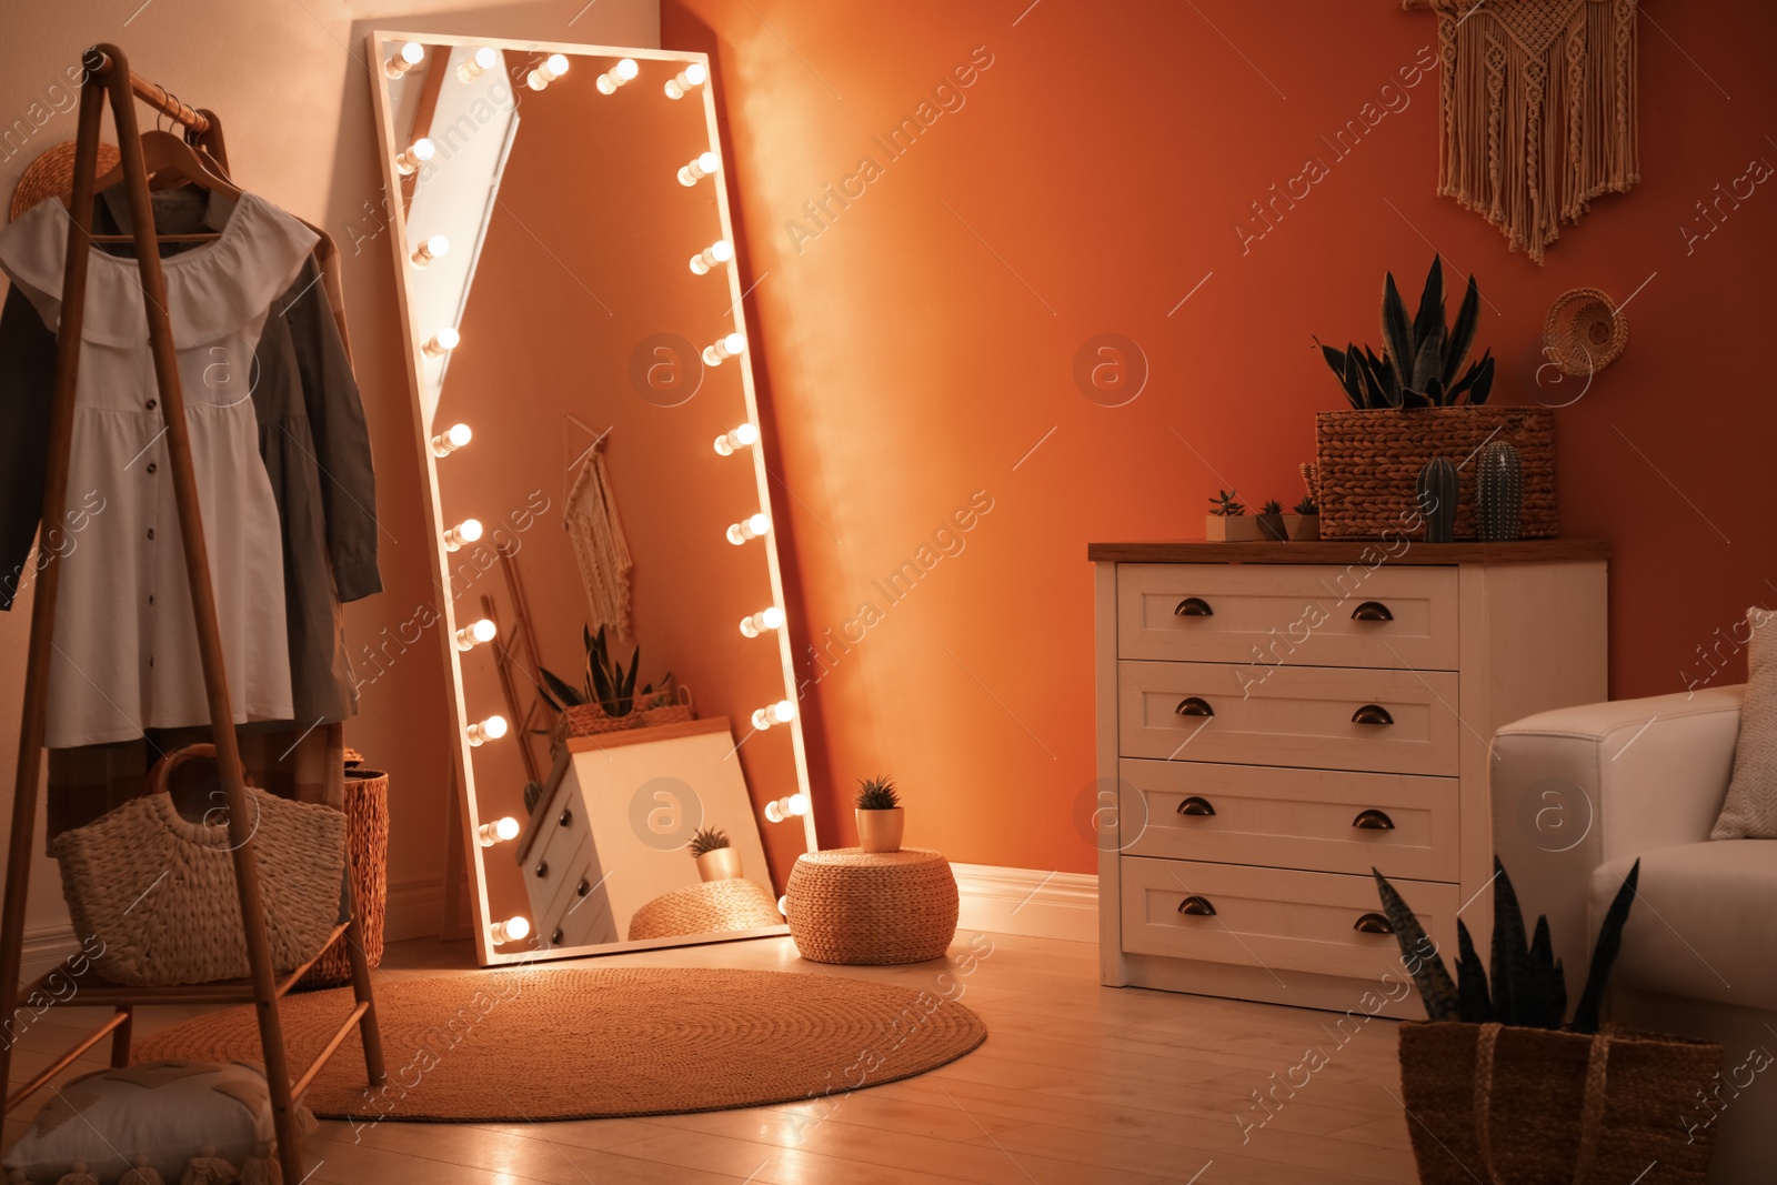
<path id="1" fill-rule="evenodd" d="M 258 1066 L 162 1061 L 75 1078 L 0 1165 L 9 1180 L 23 1169 L 30 1181 L 53 1185 L 84 1160 L 101 1185 L 114 1185 L 146 1160 L 162 1180 L 178 1181 L 192 1157 L 220 1157 L 238 1169 L 272 1139 L 272 1098 Z"/>

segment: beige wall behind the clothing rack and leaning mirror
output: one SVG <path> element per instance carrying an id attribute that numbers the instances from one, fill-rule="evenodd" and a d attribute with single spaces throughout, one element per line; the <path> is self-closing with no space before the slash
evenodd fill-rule
<path id="1" fill-rule="evenodd" d="M 379 203 L 380 167 L 364 36 L 384 27 L 659 44 L 657 0 L 482 4 L 441 11 L 444 7 L 391 4 L 375 16 L 354 18 L 363 5 L 341 0 L 149 0 L 133 16 L 133 4 L 20 5 L 7 12 L 0 60 L 0 133 L 14 130 L 0 147 L 0 195 L 11 197 L 18 174 L 39 151 L 73 139 L 66 71 L 87 44 L 110 41 L 130 55 L 139 75 L 222 117 L 236 181 L 338 240 L 384 528 L 384 593 L 347 608 L 354 652 L 359 643 L 377 641 L 384 629 L 393 636 L 418 604 L 434 599 L 389 245 L 368 213 Z M 14 121 L 30 131 L 28 139 Z M 114 137 L 107 131 L 107 139 Z M 5 799 L 11 799 L 18 760 L 28 625 L 23 604 L 0 615 L 0 796 Z M 347 725 L 347 743 L 391 775 L 391 936 L 428 933 L 437 926 L 446 805 L 453 789 L 444 695 L 439 648 L 423 640 L 366 688 L 363 714 Z M 0 812 L 0 828 L 9 819 L 11 801 Z M 41 831 L 41 810 L 37 826 Z M 27 936 L 37 947 L 53 945 L 66 920 L 55 865 L 39 858 Z"/>

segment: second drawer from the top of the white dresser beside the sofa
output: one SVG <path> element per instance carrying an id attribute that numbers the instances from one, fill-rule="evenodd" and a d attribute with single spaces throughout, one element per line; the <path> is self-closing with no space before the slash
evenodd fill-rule
<path id="1" fill-rule="evenodd" d="M 1455 686 L 1450 672 L 1118 663 L 1118 743 L 1123 757 L 1454 776 Z"/>

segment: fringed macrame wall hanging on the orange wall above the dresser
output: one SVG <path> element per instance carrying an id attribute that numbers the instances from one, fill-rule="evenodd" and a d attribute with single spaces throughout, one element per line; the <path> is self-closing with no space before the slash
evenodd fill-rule
<path id="1" fill-rule="evenodd" d="M 1542 263 L 1599 194 L 1640 181 L 1635 0 L 1402 0 L 1438 12 L 1438 194 Z"/>

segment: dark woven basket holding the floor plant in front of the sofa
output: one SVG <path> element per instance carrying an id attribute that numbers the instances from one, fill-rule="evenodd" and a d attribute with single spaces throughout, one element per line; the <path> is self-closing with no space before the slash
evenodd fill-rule
<path id="1" fill-rule="evenodd" d="M 1702 1185 L 1715 1128 L 1685 1116 L 1708 1117 L 1720 1066 L 1720 1045 L 1644 1032 L 1400 1025 L 1422 1185 Z"/>

